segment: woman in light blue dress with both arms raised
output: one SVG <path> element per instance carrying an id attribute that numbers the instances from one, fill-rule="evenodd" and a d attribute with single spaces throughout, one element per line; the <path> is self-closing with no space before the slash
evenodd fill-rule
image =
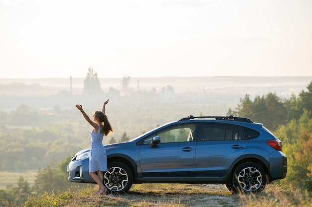
<path id="1" fill-rule="evenodd" d="M 91 131 L 91 154 L 89 158 L 89 174 L 93 180 L 99 185 L 98 191 L 94 195 L 108 194 L 107 189 L 103 185 L 104 172 L 107 171 L 106 150 L 102 143 L 103 137 L 113 132 L 113 128 L 105 115 L 105 105 L 109 99 L 104 102 L 102 111 L 95 111 L 93 121 L 84 112 L 82 105 L 76 104 L 76 107 L 82 113 L 83 117 L 93 127 Z"/>

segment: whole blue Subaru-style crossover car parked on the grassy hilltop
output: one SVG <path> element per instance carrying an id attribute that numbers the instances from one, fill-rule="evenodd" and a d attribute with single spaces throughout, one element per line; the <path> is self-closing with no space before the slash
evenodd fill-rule
<path id="1" fill-rule="evenodd" d="M 113 194 L 140 183 L 224 184 L 231 192 L 259 193 L 287 174 L 282 142 L 263 124 L 232 115 L 190 115 L 105 148 L 103 183 Z M 89 156 L 84 149 L 71 158 L 70 182 L 95 183 Z"/>

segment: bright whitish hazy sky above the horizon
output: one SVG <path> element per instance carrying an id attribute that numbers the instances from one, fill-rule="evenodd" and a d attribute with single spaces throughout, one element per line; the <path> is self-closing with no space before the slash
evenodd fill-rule
<path id="1" fill-rule="evenodd" d="M 312 76 L 312 0 L 0 0 L 0 78 Z"/>

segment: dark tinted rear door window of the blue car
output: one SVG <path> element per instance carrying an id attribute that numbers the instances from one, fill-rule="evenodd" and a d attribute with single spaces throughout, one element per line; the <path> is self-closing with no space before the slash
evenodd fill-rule
<path id="1" fill-rule="evenodd" d="M 230 124 L 203 124 L 200 141 L 241 140 L 246 139 L 239 126 Z"/>

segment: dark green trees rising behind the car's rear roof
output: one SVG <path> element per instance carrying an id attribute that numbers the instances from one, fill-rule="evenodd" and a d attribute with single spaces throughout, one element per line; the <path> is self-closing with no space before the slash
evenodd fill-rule
<path id="1" fill-rule="evenodd" d="M 254 122 L 263 123 L 266 128 L 276 130 L 291 120 L 298 120 L 305 110 L 312 111 L 312 81 L 302 90 L 299 97 L 293 94 L 290 99 L 281 99 L 276 93 L 256 96 L 250 100 L 248 94 L 240 99 L 236 110 L 229 109 L 228 114 L 247 117 Z"/>

